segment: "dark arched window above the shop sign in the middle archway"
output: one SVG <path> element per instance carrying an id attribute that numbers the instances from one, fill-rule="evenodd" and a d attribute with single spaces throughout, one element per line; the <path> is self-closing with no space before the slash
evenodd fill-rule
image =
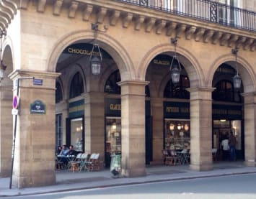
<path id="1" fill-rule="evenodd" d="M 177 84 L 173 84 L 172 80 L 169 80 L 164 89 L 164 98 L 189 99 L 190 93 L 186 91 L 186 88 L 190 88 L 190 80 L 187 75 L 180 75 L 180 82 Z"/>

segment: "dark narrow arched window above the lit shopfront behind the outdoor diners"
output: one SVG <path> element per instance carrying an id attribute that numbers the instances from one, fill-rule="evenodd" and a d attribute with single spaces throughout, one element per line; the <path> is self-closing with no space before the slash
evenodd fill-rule
<path id="1" fill-rule="evenodd" d="M 84 93 L 84 82 L 80 73 L 76 73 L 71 81 L 69 98 L 75 98 L 76 96 L 81 96 Z"/>

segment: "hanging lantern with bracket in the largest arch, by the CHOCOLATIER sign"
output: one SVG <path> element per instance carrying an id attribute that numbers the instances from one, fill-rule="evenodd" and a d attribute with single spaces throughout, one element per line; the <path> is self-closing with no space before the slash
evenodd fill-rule
<path id="1" fill-rule="evenodd" d="M 97 31 L 99 30 L 98 24 L 92 24 L 92 30 L 94 30 L 94 43 L 92 45 L 92 52 L 89 57 L 89 62 L 91 63 L 92 75 L 100 75 L 102 53 L 100 52 L 100 47 L 97 42 Z"/>

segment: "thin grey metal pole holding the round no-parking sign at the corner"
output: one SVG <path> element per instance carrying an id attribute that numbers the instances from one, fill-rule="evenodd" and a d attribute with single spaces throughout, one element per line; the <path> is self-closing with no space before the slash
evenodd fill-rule
<path id="1" fill-rule="evenodd" d="M 34 80 L 34 77 L 29 78 L 18 78 L 17 79 L 17 97 L 19 98 L 19 81 L 24 79 L 32 79 Z M 19 113 L 19 105 L 17 107 L 18 113 Z M 17 130 L 17 118 L 18 114 L 15 114 L 15 120 L 14 120 L 14 133 L 13 133 L 13 142 L 12 142 L 12 169 L 11 169 L 11 177 L 10 177 L 10 184 L 9 189 L 12 189 L 12 173 L 13 173 L 13 166 L 14 166 L 14 152 L 15 152 L 15 142 L 16 142 L 16 130 Z"/>

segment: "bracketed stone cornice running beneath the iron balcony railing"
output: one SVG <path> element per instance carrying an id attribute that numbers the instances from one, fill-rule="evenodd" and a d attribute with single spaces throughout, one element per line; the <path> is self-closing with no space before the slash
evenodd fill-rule
<path id="1" fill-rule="evenodd" d="M 177 37 L 185 37 L 187 40 L 196 42 L 211 42 L 213 45 L 225 45 L 228 47 L 243 47 L 243 50 L 255 51 L 256 34 L 243 29 L 221 26 L 220 24 L 203 22 L 190 17 L 182 17 L 154 9 L 148 9 L 133 4 L 125 4 L 120 1 L 110 0 L 2 0 L 0 4 L 0 30 L 4 31 L 11 23 L 18 9 L 29 10 L 28 6 L 37 7 L 37 11 L 44 13 L 46 6 L 51 6 L 53 15 L 60 15 L 63 9 L 68 9 L 67 17 L 76 18 L 82 13 L 82 20 L 89 21 L 92 14 L 96 15 L 98 23 L 105 22 L 108 18 L 110 25 L 115 26 L 118 19 L 122 20 L 123 28 L 128 28 L 133 24 L 137 31 L 151 32 L 156 29 L 155 34 L 165 34 L 167 37 L 175 34 Z M 46 13 L 46 12 L 45 12 Z M 145 29 L 141 29 L 141 27 Z"/>

